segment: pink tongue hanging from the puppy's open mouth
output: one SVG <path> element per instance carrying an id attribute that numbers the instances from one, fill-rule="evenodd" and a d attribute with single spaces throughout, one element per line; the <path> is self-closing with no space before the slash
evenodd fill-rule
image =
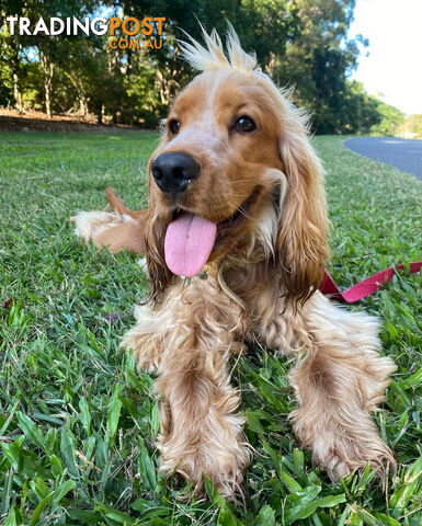
<path id="1" fill-rule="evenodd" d="M 213 250 L 217 225 L 194 214 L 183 213 L 166 232 L 167 266 L 179 276 L 196 276 Z"/>

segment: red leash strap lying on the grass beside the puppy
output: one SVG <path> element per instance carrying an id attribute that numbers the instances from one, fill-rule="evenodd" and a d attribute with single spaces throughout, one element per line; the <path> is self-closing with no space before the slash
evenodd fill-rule
<path id="1" fill-rule="evenodd" d="M 414 261 L 409 263 L 410 265 L 410 273 L 417 274 L 422 267 L 422 261 Z M 332 299 L 338 299 L 339 301 L 343 301 L 346 304 L 354 304 L 360 299 L 366 298 L 372 294 L 376 293 L 381 288 L 381 285 L 385 283 L 389 283 L 392 279 L 392 276 L 397 274 L 397 271 L 402 271 L 404 265 L 400 263 L 397 267 L 390 266 L 385 271 L 378 272 L 373 276 L 364 279 L 353 287 L 347 288 L 342 293 L 340 288 L 335 285 L 334 279 L 330 276 L 330 274 L 326 271 L 326 276 L 320 285 L 319 289 L 326 296 L 330 296 Z"/>

